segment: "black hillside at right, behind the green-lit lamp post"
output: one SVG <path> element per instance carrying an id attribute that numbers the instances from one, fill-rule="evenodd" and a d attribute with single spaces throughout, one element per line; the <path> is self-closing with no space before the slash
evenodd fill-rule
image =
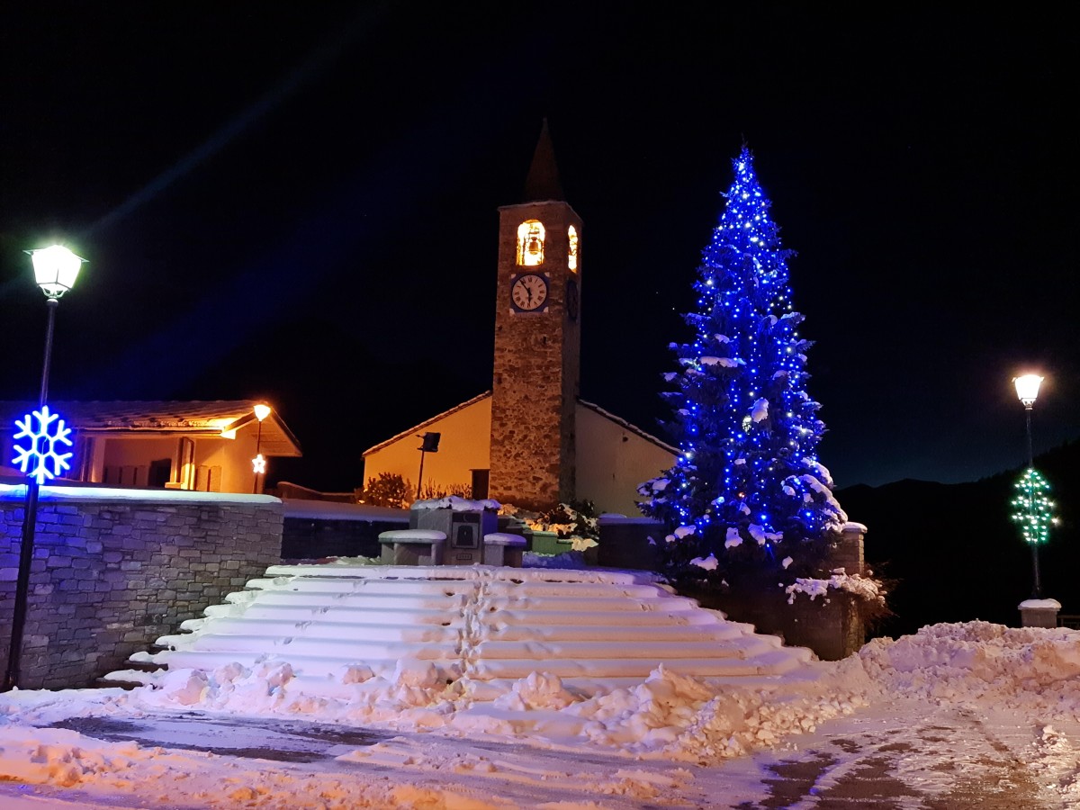
<path id="1" fill-rule="evenodd" d="M 1042 596 L 1080 613 L 1080 441 L 1035 460 L 1057 503 L 1061 525 L 1039 549 Z M 1010 519 L 1013 484 L 1023 468 L 971 484 L 899 481 L 854 486 L 836 496 L 865 524 L 866 559 L 899 580 L 889 597 L 896 616 L 875 635 L 899 636 L 926 624 L 983 619 L 1015 626 L 1016 605 L 1031 595 L 1031 552 Z"/>

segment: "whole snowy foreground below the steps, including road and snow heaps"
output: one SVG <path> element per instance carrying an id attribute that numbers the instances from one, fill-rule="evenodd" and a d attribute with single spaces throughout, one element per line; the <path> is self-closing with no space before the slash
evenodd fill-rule
<path id="1" fill-rule="evenodd" d="M 473 700 L 408 667 L 351 699 L 289 686 L 221 667 L 2 696 L 0 806 L 1080 807 L 1068 630 L 935 625 L 769 688 L 658 672 Z"/>

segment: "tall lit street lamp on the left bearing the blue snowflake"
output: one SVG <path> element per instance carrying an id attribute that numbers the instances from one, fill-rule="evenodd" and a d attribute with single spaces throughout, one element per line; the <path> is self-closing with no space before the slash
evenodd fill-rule
<path id="1" fill-rule="evenodd" d="M 33 262 L 33 276 L 41 292 L 45 294 L 49 310 L 49 325 L 45 327 L 45 359 L 41 369 L 41 393 L 38 396 L 39 411 L 48 414 L 49 367 L 53 356 L 53 326 L 60 296 L 75 286 L 79 269 L 85 259 L 79 258 L 67 247 L 53 245 L 40 251 L 27 251 Z M 29 421 L 29 420 L 27 420 Z M 26 482 L 26 505 L 23 510 L 23 543 L 18 552 L 18 576 L 15 580 L 15 605 L 11 618 L 11 646 L 8 649 L 8 670 L 0 691 L 18 687 L 19 667 L 23 658 L 23 631 L 26 627 L 26 603 L 30 590 L 30 563 L 33 561 L 33 534 L 38 522 L 38 492 L 41 475 L 30 474 Z"/>

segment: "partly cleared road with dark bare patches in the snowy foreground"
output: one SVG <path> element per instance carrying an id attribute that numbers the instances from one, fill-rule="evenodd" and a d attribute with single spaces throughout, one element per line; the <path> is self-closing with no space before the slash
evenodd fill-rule
<path id="1" fill-rule="evenodd" d="M 823 724 L 787 738 L 782 748 L 708 766 L 294 719 L 176 714 L 56 726 L 108 741 L 259 759 L 267 768 L 453 787 L 499 807 L 1080 808 L 1080 747 L 1071 742 L 1080 741 L 1080 723 L 1048 732 L 1003 710 L 910 699 Z"/>

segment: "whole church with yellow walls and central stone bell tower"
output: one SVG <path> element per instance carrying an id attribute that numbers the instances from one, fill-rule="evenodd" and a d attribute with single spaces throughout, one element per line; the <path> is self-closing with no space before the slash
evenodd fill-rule
<path id="1" fill-rule="evenodd" d="M 545 121 L 523 201 L 499 208 L 491 390 L 366 450 L 365 482 L 637 515 L 637 485 L 674 464 L 676 448 L 580 397 L 582 222 L 563 198 Z"/>

